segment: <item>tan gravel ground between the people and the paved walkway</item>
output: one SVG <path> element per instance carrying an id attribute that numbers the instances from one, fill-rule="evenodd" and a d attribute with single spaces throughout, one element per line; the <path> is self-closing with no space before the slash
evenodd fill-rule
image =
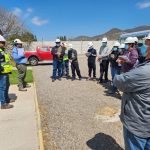
<path id="1" fill-rule="evenodd" d="M 80 56 L 79 64 L 82 76 L 87 77 L 86 57 Z M 106 95 L 109 84 L 65 78 L 52 83 L 52 65 L 36 66 L 33 70 L 46 150 L 122 150 L 120 121 L 96 118 L 101 108 L 120 108 L 119 99 Z"/>

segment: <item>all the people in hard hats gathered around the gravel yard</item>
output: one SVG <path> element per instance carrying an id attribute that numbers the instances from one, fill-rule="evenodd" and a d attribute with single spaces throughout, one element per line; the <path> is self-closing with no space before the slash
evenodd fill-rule
<path id="1" fill-rule="evenodd" d="M 110 64 L 112 88 L 110 94 L 117 90 L 123 92 L 121 121 L 123 123 L 126 150 L 150 149 L 150 34 L 145 37 L 146 55 L 141 54 L 137 37 L 128 37 L 123 44 L 116 41 L 113 48 L 108 48 L 107 38 L 102 39 L 102 46 L 97 54 L 93 43 L 88 43 L 86 56 L 88 58 L 88 79 L 96 78 L 96 61 L 100 64 L 100 83 L 108 82 L 108 68 Z M 0 102 L 1 109 L 12 108 L 9 98 L 9 74 L 12 72 L 11 57 L 5 50 L 6 40 L 0 35 Z M 53 75 L 52 81 L 61 80 L 62 76 L 69 77 L 69 63 L 71 63 L 72 80 L 76 73 L 82 79 L 77 51 L 72 44 L 67 45 L 56 39 L 56 46 L 52 48 Z M 27 91 L 26 58 L 24 48 L 19 39 L 14 40 L 12 57 L 19 73 L 19 91 Z M 96 59 L 97 58 L 97 59 Z"/>

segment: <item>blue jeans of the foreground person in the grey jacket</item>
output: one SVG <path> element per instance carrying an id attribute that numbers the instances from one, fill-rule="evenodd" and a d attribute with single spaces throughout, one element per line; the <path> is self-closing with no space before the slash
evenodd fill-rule
<path id="1" fill-rule="evenodd" d="M 123 127 L 125 150 L 150 150 L 150 137 L 140 138 Z"/>

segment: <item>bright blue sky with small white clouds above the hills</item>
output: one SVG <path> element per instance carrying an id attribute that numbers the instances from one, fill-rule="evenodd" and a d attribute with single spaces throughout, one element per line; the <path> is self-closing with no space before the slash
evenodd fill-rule
<path id="1" fill-rule="evenodd" d="M 150 25 L 150 0 L 0 0 L 38 40 L 99 35 L 111 28 Z"/>

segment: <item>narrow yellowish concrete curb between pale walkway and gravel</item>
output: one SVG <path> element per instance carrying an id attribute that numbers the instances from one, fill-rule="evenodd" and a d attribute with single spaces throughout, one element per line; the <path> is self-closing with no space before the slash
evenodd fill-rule
<path id="1" fill-rule="evenodd" d="M 36 111 L 36 120 L 37 120 L 37 128 L 38 128 L 38 138 L 39 138 L 39 150 L 44 150 L 44 140 L 43 140 L 43 133 L 42 133 L 42 127 L 41 127 L 41 117 L 40 117 L 40 110 L 39 110 L 39 104 L 37 100 L 37 91 L 35 82 L 33 82 L 34 86 L 34 102 L 35 102 L 35 111 Z"/>

